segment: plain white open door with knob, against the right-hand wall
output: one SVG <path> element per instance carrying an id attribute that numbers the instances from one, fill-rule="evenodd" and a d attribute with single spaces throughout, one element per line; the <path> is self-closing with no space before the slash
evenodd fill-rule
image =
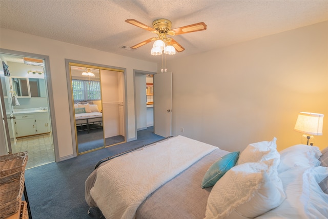
<path id="1" fill-rule="evenodd" d="M 154 75 L 154 133 L 172 135 L 172 72 Z"/>

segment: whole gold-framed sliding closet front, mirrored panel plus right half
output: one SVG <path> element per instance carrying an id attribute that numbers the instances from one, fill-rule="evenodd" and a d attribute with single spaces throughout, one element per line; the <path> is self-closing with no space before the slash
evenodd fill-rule
<path id="1" fill-rule="evenodd" d="M 124 72 L 69 63 L 77 154 L 125 142 Z"/>

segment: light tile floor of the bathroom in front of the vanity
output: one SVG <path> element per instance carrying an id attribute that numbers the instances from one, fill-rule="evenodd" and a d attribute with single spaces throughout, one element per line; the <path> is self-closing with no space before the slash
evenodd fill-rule
<path id="1" fill-rule="evenodd" d="M 12 152 L 17 153 L 23 151 L 27 151 L 28 155 L 26 169 L 55 161 L 50 134 L 17 139 L 16 145 L 12 146 Z"/>

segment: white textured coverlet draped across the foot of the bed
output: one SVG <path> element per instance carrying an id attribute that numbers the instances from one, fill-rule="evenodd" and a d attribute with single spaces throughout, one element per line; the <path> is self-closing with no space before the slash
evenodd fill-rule
<path id="1" fill-rule="evenodd" d="M 149 194 L 215 149 L 177 136 L 116 157 L 98 168 L 90 194 L 107 219 L 133 218 Z"/>

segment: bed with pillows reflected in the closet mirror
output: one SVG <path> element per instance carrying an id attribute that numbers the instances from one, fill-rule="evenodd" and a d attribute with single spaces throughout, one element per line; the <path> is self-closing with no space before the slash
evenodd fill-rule
<path id="1" fill-rule="evenodd" d="M 89 131 L 103 127 L 103 113 L 92 101 L 74 103 L 75 124 L 77 131 Z"/>

